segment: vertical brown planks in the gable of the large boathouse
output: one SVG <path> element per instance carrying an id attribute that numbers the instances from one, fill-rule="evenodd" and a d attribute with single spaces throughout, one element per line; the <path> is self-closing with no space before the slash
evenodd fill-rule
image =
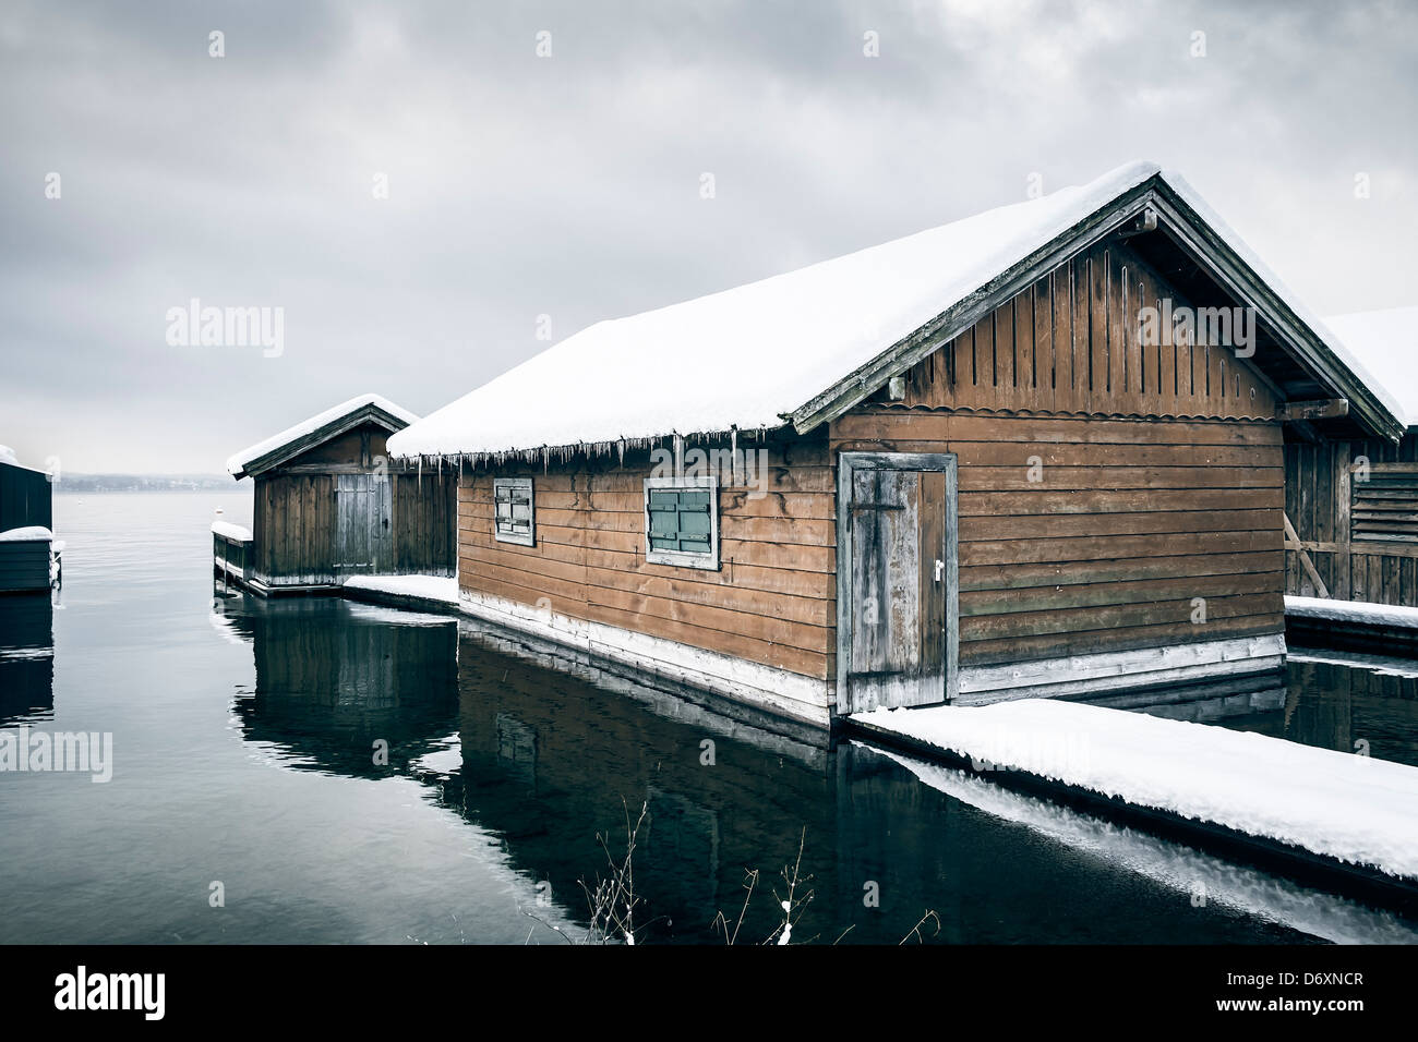
<path id="1" fill-rule="evenodd" d="M 1056 414 L 1272 418 L 1276 397 L 1227 347 L 1150 343 L 1139 313 L 1188 306 L 1132 250 L 1061 265 L 925 359 L 906 405 Z"/>

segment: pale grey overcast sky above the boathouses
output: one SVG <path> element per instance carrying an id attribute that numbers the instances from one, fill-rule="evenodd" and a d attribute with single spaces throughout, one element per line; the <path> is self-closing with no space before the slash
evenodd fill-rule
<path id="1" fill-rule="evenodd" d="M 542 315 L 560 340 L 1130 159 L 1316 312 L 1414 303 L 1418 4 L 1334 7 L 6 0 L 0 442 L 220 472 L 362 391 L 428 413 Z M 282 308 L 284 352 L 170 344 L 193 298 Z"/>

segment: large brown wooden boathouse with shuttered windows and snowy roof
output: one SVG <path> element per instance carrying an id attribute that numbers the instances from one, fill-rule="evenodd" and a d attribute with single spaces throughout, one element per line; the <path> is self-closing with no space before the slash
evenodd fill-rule
<path id="1" fill-rule="evenodd" d="M 1286 425 L 1402 434 L 1316 326 L 1139 163 L 597 323 L 389 449 L 459 474 L 464 611 L 795 720 L 1259 675 Z"/>

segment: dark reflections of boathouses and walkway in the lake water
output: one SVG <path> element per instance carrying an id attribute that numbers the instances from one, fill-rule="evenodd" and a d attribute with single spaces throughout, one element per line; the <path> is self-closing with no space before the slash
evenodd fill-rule
<path id="1" fill-rule="evenodd" d="M 644 802 L 635 886 L 655 940 L 712 940 L 713 916 L 737 914 L 753 868 L 761 876 L 743 937 L 766 936 L 778 870 L 801 836 L 817 897 L 794 937 L 820 943 L 847 927 L 851 941 L 895 943 L 926 909 L 940 916 L 937 940 L 956 943 L 1025 941 L 1024 924 L 1061 917 L 1079 924 L 1076 940 L 1136 940 L 1149 930 L 1215 940 L 1217 920 L 1170 910 L 1168 902 L 1187 900 L 1176 879 L 1207 880 L 1218 899 L 1276 923 L 1290 921 L 1288 902 L 1303 893 L 1295 907 L 1310 917 L 1297 926 L 1332 940 L 1401 933 L 1387 913 L 984 778 L 927 768 L 922 784 L 889 754 L 830 744 L 813 729 L 770 730 L 607 673 L 566 648 L 549 671 L 547 646 L 468 620 L 414 620 L 335 598 L 228 598 L 217 624 L 250 641 L 255 659 L 255 689 L 234 706 L 242 737 L 296 768 L 424 783 L 432 802 L 501 838 L 509 865 L 573 917 L 584 919 L 580 882 L 605 872 L 598 836 L 620 856 L 627 809 L 634 818 Z M 1381 696 L 1356 690 L 1356 719 L 1375 705 L 1411 707 L 1414 683 Z M 1282 705 L 1290 698 L 1282 692 Z M 1300 698 L 1276 712 L 1306 719 L 1307 705 Z M 1341 733 L 1336 722 L 1330 740 Z M 372 761 L 376 739 L 389 741 L 387 767 Z M 878 907 L 864 904 L 866 883 L 881 895 Z M 1156 912 L 1119 917 L 1123 885 L 1154 890 L 1140 906 Z M 981 893 L 1008 900 L 1010 914 Z M 1254 923 L 1235 930 L 1236 940 L 1244 930 L 1254 939 Z M 1275 940 L 1290 936 L 1275 927 Z"/>

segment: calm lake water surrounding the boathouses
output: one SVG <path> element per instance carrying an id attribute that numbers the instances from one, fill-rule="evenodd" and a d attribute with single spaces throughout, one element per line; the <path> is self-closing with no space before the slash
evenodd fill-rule
<path id="1" fill-rule="evenodd" d="M 55 496 L 65 583 L 0 603 L 0 726 L 106 732 L 113 774 L 0 774 L 3 943 L 563 943 L 624 852 L 648 941 L 1412 941 L 1414 923 L 988 781 L 735 723 L 467 621 L 223 595 L 233 495 Z M 50 654 L 52 649 L 52 655 Z M 1414 680 L 1296 663 L 1290 690 L 1159 707 L 1414 758 Z M 705 764 L 705 741 L 713 764 Z M 387 763 L 376 763 L 387 743 Z M 210 895 L 220 883 L 224 906 Z M 800 892 L 801 893 L 801 892 Z M 875 906 L 865 897 L 879 895 Z"/>

